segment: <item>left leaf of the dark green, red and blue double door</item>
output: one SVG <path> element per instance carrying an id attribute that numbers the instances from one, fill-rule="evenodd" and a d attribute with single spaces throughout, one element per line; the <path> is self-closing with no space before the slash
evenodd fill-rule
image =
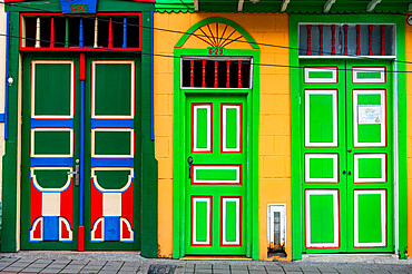
<path id="1" fill-rule="evenodd" d="M 77 247 L 76 59 L 26 58 L 22 126 L 22 249 Z M 57 92 L 58 91 L 58 92 Z"/>

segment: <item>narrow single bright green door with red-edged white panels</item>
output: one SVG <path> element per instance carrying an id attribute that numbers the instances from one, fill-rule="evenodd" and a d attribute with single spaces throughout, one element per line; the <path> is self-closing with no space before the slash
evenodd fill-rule
<path id="1" fill-rule="evenodd" d="M 246 97 L 189 95 L 186 106 L 185 253 L 246 255 Z"/>

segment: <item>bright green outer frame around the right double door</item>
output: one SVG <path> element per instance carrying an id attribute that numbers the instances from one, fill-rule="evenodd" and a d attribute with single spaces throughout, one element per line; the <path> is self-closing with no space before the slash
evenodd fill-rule
<path id="1" fill-rule="evenodd" d="M 404 17 L 394 18 L 386 14 L 350 16 L 290 16 L 291 55 L 291 130 L 292 130 L 292 258 L 302 258 L 302 186 L 301 174 L 301 136 L 300 136 L 300 79 L 298 74 L 298 23 L 300 22 L 359 22 L 359 23 L 396 23 L 396 59 L 405 60 L 405 21 Z M 396 63 L 398 71 L 405 71 L 405 62 Z M 398 74 L 398 153 L 399 153 L 399 246 L 400 257 L 406 258 L 408 246 L 408 174 L 406 174 L 406 75 Z"/>

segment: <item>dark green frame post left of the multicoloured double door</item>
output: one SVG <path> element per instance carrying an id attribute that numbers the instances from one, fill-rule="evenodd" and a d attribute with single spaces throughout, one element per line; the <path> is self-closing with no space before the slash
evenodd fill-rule
<path id="1" fill-rule="evenodd" d="M 10 12 L 11 37 L 19 37 L 19 13 Z M 9 48 L 9 76 L 14 79 L 14 85 L 9 87 L 9 138 L 6 140 L 6 154 L 2 160 L 3 188 L 2 188 L 2 229 L 1 252 L 17 251 L 17 151 L 18 151 L 18 82 L 19 82 L 19 39 L 10 39 Z"/>

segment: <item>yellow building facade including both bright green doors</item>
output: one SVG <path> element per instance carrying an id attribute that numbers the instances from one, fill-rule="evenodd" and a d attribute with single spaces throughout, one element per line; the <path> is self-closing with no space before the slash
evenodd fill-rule
<path id="1" fill-rule="evenodd" d="M 159 256 L 408 257 L 408 3 L 189 4 L 155 13 Z"/>

